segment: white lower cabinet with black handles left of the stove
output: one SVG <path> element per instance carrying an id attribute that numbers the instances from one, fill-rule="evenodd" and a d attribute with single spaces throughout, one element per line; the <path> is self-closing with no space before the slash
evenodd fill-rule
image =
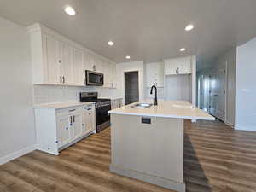
<path id="1" fill-rule="evenodd" d="M 95 105 L 76 108 L 36 108 L 37 148 L 59 154 L 80 139 L 96 132 Z"/>

